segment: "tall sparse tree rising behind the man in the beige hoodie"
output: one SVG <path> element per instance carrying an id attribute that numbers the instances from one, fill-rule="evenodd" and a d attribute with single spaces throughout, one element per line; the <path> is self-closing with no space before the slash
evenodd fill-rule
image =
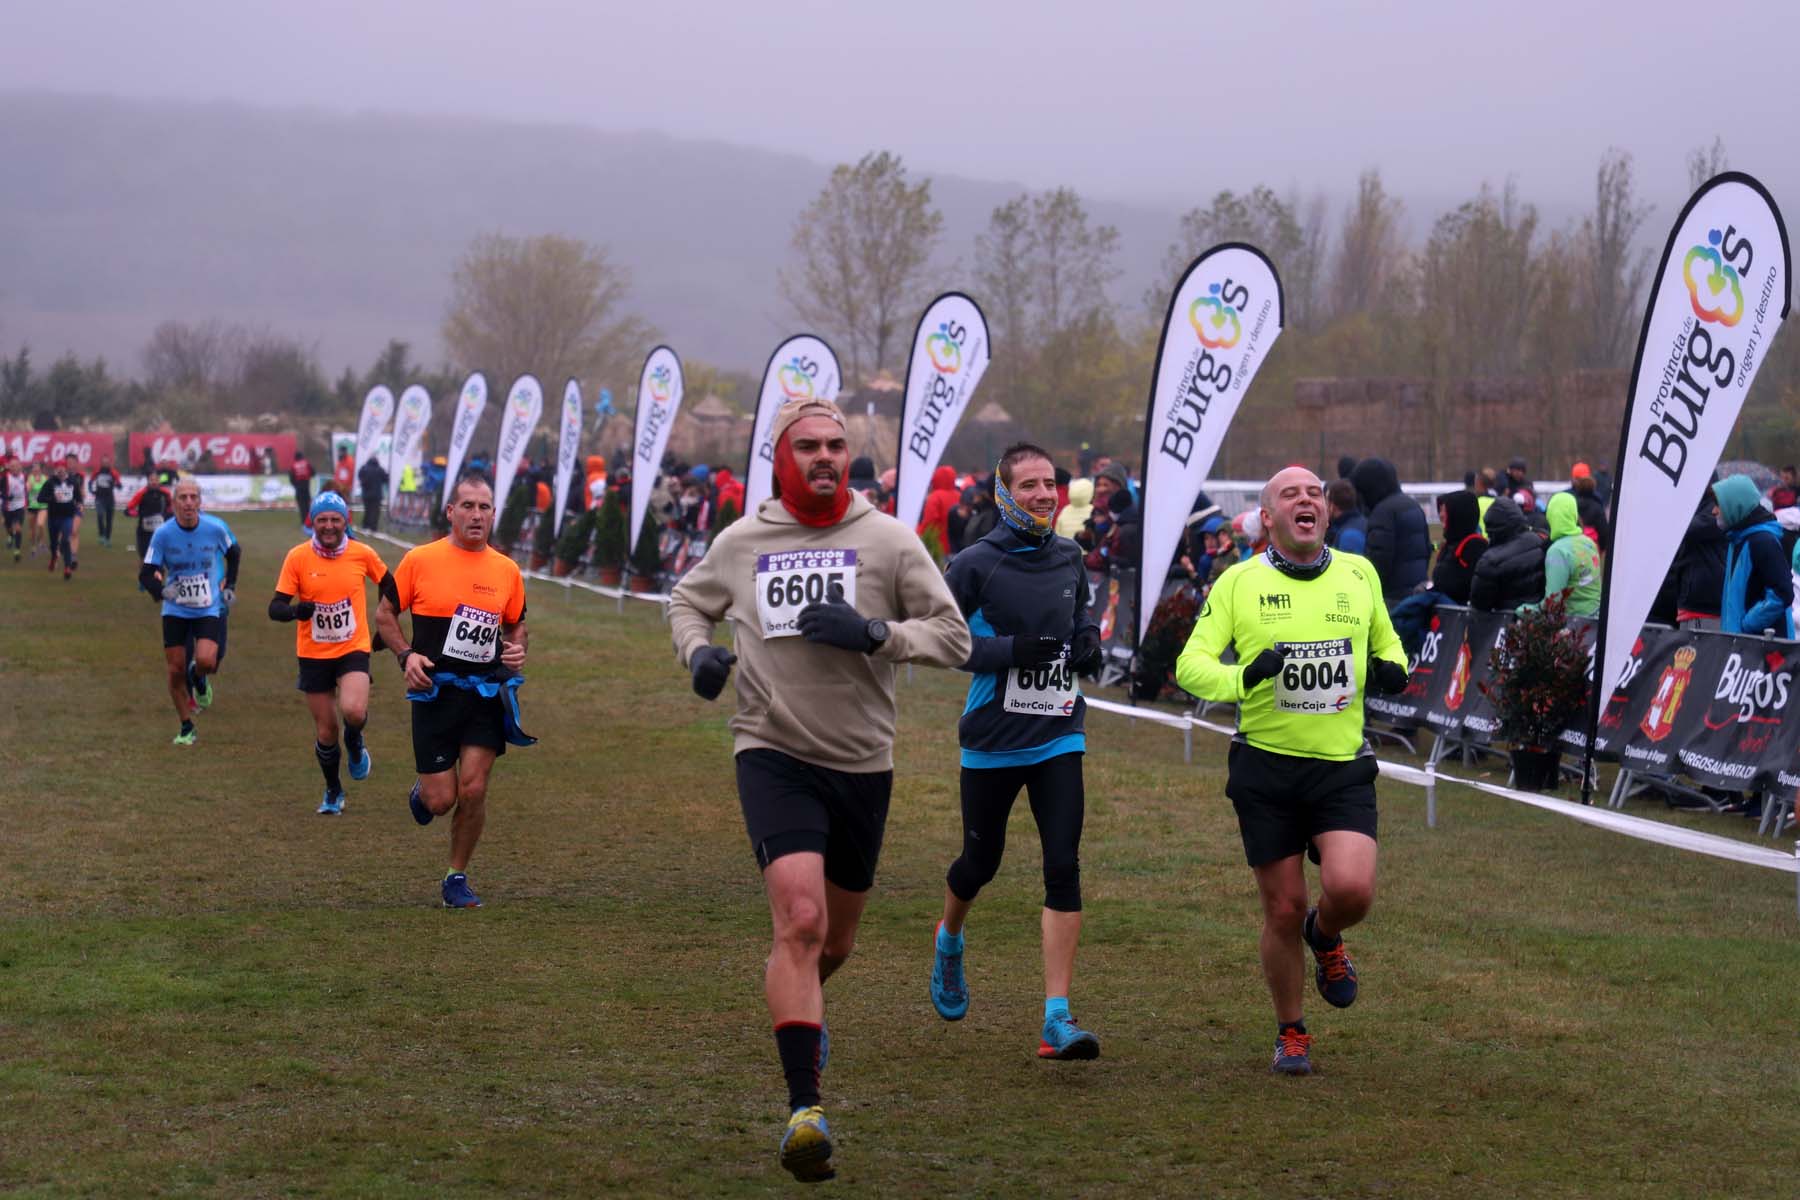
<path id="1" fill-rule="evenodd" d="M 850 374 L 866 378 L 898 358 L 941 234 L 931 180 L 907 184 L 898 155 L 839 164 L 794 221 L 796 264 L 781 272 L 781 293 L 801 320 L 850 347 Z"/>

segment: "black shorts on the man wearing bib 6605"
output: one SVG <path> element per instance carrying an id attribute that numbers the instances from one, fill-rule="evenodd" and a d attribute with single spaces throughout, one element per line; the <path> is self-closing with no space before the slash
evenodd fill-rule
<path id="1" fill-rule="evenodd" d="M 814 766 L 779 750 L 738 754 L 738 802 L 756 865 L 824 855 L 824 878 L 846 892 L 875 887 L 895 774 Z"/>

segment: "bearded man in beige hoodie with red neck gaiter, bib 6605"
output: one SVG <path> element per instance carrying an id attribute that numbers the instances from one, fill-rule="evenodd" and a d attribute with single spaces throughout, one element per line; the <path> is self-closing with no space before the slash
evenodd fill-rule
<path id="1" fill-rule="evenodd" d="M 918 536 L 850 489 L 837 405 L 776 414 L 774 498 L 727 527 L 670 597 L 675 653 L 715 700 L 731 666 L 738 801 L 774 948 L 763 990 L 788 1085 L 781 1166 L 833 1175 L 819 1108 L 824 981 L 842 966 L 887 824 L 895 666 L 959 667 L 968 626 Z M 713 646 L 731 621 L 736 655 Z"/>

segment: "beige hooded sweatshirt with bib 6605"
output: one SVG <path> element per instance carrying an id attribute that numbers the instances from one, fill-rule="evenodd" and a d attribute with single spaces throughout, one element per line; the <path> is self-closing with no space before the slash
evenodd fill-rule
<path id="1" fill-rule="evenodd" d="M 794 551 L 812 558 L 770 561 Z M 814 581 L 824 585 L 832 574 L 848 585 L 844 599 L 857 612 L 887 622 L 887 640 L 875 653 L 808 642 L 792 631 L 799 606 L 765 608 L 769 596 L 785 590 L 823 592 Z M 895 664 L 961 667 L 968 660 L 968 624 L 923 543 L 860 493 L 832 525 L 803 525 L 770 498 L 720 533 L 670 596 L 682 666 L 711 640 L 718 621 L 733 624 L 738 655 L 734 752 L 779 750 L 842 772 L 893 770 Z"/>

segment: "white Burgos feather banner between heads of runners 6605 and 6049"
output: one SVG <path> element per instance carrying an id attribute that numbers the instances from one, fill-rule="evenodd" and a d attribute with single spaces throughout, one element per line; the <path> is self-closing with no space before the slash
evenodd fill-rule
<path id="1" fill-rule="evenodd" d="M 968 412 L 976 385 L 988 369 L 988 318 L 961 291 L 945 291 L 918 318 L 905 369 L 895 480 L 895 516 L 907 529 L 918 525 L 925 511 L 931 473 L 938 470 L 956 423 Z"/>

